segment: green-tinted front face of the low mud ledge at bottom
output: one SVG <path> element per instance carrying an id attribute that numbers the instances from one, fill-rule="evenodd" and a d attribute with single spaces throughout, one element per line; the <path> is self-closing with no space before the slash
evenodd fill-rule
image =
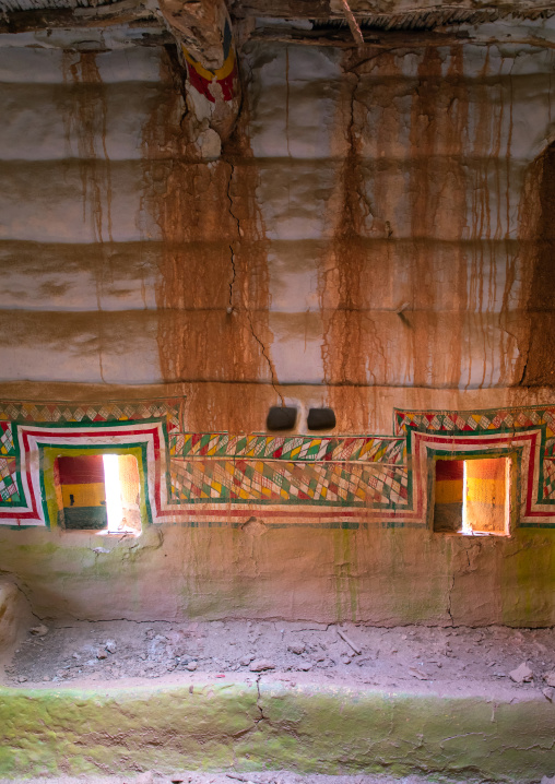
<path id="1" fill-rule="evenodd" d="M 555 706 L 542 700 L 287 687 L 275 676 L 1 688 L 0 776 L 233 767 L 524 784 L 555 772 Z"/>

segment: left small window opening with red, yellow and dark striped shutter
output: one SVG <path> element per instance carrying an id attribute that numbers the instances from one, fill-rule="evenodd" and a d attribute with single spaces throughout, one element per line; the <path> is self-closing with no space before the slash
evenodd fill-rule
<path id="1" fill-rule="evenodd" d="M 56 475 L 64 528 L 141 531 L 139 466 L 132 454 L 59 456 Z"/>

